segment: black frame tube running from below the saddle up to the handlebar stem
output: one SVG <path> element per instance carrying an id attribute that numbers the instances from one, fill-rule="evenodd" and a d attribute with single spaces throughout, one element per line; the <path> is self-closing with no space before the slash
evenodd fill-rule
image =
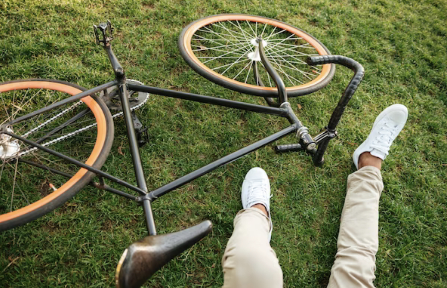
<path id="1" fill-rule="evenodd" d="M 177 180 L 174 180 L 173 182 L 166 184 L 160 188 L 155 189 L 154 191 L 149 193 L 149 198 L 152 200 L 157 199 L 158 197 L 173 191 L 174 189 L 191 182 L 192 180 L 207 174 L 208 172 L 211 172 L 215 170 L 216 168 L 225 165 L 227 163 L 230 163 L 246 154 L 249 154 L 250 152 L 253 152 L 254 150 L 257 150 L 261 148 L 262 146 L 265 146 L 271 142 L 274 142 L 280 138 L 283 138 L 284 136 L 291 134 L 296 131 L 296 125 L 291 125 L 287 127 L 286 129 L 283 129 L 273 135 L 270 135 L 269 137 L 266 137 L 262 140 L 259 140 L 257 142 L 254 142 L 253 144 L 246 146 L 240 150 L 237 150 L 236 152 L 233 152 L 232 154 L 229 154 L 219 160 L 216 160 L 206 166 L 203 166 L 200 169 L 197 169 L 196 171 L 191 172 L 190 174 L 187 174 L 183 177 L 178 178 Z"/>

